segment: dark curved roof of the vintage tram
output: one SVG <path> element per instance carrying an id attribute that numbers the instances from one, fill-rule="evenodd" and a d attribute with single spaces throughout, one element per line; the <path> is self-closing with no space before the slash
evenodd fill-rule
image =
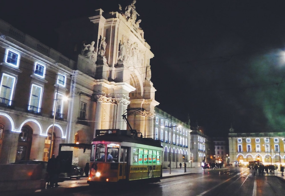
<path id="1" fill-rule="evenodd" d="M 95 137 L 92 142 L 93 141 L 130 142 L 148 146 L 162 147 L 160 140 L 154 140 L 152 138 L 140 138 L 134 135 L 105 134 Z"/>

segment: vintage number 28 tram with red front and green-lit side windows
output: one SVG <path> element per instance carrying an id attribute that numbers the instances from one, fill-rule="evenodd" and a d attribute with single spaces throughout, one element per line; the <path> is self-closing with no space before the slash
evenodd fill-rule
<path id="1" fill-rule="evenodd" d="M 163 150 L 160 140 L 138 134 L 135 130 L 96 130 L 87 183 L 160 181 Z"/>

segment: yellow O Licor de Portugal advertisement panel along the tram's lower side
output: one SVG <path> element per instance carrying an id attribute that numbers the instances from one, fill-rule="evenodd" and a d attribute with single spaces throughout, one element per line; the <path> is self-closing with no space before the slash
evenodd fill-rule
<path id="1" fill-rule="evenodd" d="M 161 165 L 131 165 L 129 180 L 160 177 Z"/>

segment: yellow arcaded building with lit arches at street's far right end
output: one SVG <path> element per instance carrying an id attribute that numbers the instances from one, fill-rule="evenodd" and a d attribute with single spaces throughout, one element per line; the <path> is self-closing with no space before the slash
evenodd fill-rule
<path id="1" fill-rule="evenodd" d="M 262 161 L 264 165 L 285 164 L 285 132 L 229 133 L 230 163 L 247 165 Z"/>

